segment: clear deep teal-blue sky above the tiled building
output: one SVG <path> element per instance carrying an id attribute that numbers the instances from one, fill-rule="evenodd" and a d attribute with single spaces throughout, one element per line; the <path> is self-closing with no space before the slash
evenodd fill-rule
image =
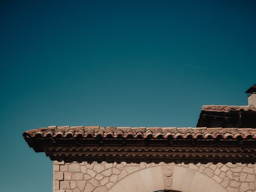
<path id="1" fill-rule="evenodd" d="M 255 10 L 254 0 L 1 0 L 1 190 L 52 191 L 52 162 L 26 130 L 195 127 L 202 105 L 247 105 Z"/>

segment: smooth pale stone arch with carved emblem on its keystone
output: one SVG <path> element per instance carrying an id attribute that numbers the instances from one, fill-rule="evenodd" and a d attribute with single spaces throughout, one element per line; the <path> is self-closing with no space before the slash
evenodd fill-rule
<path id="1" fill-rule="evenodd" d="M 108 192 L 227 192 L 218 182 L 181 166 L 155 166 L 129 174 Z"/>

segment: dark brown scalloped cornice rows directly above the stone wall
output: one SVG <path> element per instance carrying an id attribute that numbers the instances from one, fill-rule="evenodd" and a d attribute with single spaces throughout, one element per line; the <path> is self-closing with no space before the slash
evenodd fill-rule
<path id="1" fill-rule="evenodd" d="M 254 148 L 139 148 L 139 147 L 49 147 L 44 152 L 58 158 L 186 158 L 255 159 Z"/>

